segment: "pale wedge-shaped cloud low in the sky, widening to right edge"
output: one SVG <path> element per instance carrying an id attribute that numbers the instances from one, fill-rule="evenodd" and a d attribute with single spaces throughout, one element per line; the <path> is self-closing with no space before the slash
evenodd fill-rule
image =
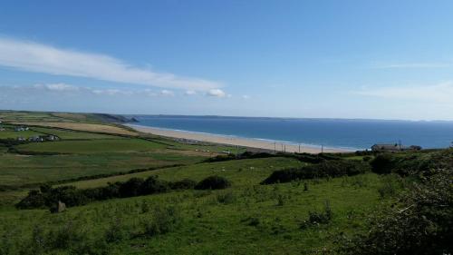
<path id="1" fill-rule="evenodd" d="M 366 96 L 389 99 L 429 101 L 432 103 L 453 103 L 453 82 L 425 86 L 401 86 L 363 89 L 353 92 Z"/>

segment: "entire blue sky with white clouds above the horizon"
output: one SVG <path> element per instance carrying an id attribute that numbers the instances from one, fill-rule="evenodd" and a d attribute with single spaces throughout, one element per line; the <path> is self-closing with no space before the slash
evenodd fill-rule
<path id="1" fill-rule="evenodd" d="M 2 1 L 0 109 L 453 120 L 451 1 Z"/>

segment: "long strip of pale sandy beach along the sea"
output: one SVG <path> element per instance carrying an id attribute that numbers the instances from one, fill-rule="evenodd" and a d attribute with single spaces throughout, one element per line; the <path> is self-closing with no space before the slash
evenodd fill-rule
<path id="1" fill-rule="evenodd" d="M 321 146 L 315 147 L 315 146 L 301 145 L 299 147 L 299 145 L 295 145 L 295 144 L 291 144 L 291 143 L 284 143 L 284 142 L 270 142 L 270 141 L 257 140 L 257 139 L 237 138 L 237 137 L 229 137 L 229 136 L 222 136 L 222 135 L 215 135 L 215 134 L 208 134 L 208 133 L 199 133 L 199 132 L 175 131 L 175 130 L 168 130 L 168 129 L 152 128 L 152 127 L 148 127 L 148 126 L 141 126 L 141 125 L 135 125 L 135 124 L 128 124 L 127 126 L 133 128 L 139 132 L 148 132 L 148 133 L 152 133 L 152 134 L 156 134 L 156 135 L 160 135 L 160 136 L 171 137 L 171 138 L 236 145 L 236 146 L 248 147 L 248 148 L 265 149 L 265 150 L 270 150 L 270 151 L 275 150 L 277 152 L 320 153 L 322 151 Z M 323 148 L 323 152 L 351 152 L 351 151 L 343 150 L 343 149 Z"/>

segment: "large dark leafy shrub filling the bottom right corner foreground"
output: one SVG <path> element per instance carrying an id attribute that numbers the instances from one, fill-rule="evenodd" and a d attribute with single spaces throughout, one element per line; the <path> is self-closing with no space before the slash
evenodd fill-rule
<path id="1" fill-rule="evenodd" d="M 349 254 L 453 252 L 453 169 L 438 170 L 402 193 L 396 204 L 371 216 L 367 234 L 346 245 Z"/>

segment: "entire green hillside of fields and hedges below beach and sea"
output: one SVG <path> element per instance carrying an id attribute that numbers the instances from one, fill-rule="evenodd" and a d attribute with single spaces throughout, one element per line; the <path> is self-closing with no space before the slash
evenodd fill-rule
<path id="1" fill-rule="evenodd" d="M 120 120 L 0 112 L 10 129 L 0 132 L 0 254 L 453 251 L 453 150 L 226 157 L 236 148 L 106 119 Z M 14 132 L 14 123 L 33 125 Z M 203 190 L 206 180 L 230 185 Z M 68 208 L 51 213 L 57 201 Z"/>

